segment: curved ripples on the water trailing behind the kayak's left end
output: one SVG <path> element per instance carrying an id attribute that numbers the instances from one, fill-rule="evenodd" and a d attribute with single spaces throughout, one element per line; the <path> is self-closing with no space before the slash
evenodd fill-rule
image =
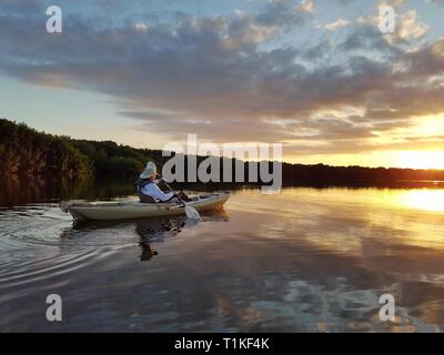
<path id="1" fill-rule="evenodd" d="M 138 242 L 131 224 L 75 229 L 54 204 L 0 210 L 0 226 L 3 290 L 79 271 Z"/>

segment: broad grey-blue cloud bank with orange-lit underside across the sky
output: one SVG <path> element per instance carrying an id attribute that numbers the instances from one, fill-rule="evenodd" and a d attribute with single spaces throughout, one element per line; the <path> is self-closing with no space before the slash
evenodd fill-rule
<path id="1" fill-rule="evenodd" d="M 41 17 L 27 14 L 23 26 L 18 19 L 29 9 L 8 1 L 0 6 L 9 12 L 0 17 L 4 74 L 105 93 L 134 128 L 170 139 L 190 132 L 357 152 L 418 115 L 444 112 L 444 39 L 422 41 L 426 26 L 414 11 L 401 17 L 396 40 L 379 31 L 372 13 L 330 23 L 330 31 L 343 28 L 334 40 L 329 33 L 296 47 L 285 34 L 302 29 L 313 2 L 301 11 L 274 0 L 230 17 L 178 12 L 163 22 L 68 13 L 63 33 L 49 36 Z M 100 3 L 114 11 L 113 1 Z"/>

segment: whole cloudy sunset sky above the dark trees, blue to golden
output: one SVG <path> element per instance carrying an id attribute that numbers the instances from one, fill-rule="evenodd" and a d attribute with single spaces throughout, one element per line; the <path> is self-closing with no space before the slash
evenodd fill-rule
<path id="1" fill-rule="evenodd" d="M 444 169 L 444 0 L 1 0 L 0 116 L 138 148 L 196 133 L 282 142 L 290 162 Z"/>

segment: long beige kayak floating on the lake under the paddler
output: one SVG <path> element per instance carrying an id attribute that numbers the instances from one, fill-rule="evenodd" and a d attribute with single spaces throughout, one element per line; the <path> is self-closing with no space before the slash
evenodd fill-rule
<path id="1" fill-rule="evenodd" d="M 193 197 L 186 202 L 198 211 L 215 210 L 229 200 L 231 193 L 212 193 Z M 60 207 L 71 213 L 75 221 L 132 220 L 151 216 L 181 215 L 185 211 L 180 203 L 112 202 L 90 203 L 84 201 L 61 202 Z"/>

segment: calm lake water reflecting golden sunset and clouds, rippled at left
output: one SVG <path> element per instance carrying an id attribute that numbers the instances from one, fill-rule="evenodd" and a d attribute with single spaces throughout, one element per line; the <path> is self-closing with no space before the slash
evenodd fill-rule
<path id="1" fill-rule="evenodd" d="M 444 329 L 444 190 L 239 191 L 198 224 L 73 225 L 39 203 L 0 226 L 2 332 Z"/>

